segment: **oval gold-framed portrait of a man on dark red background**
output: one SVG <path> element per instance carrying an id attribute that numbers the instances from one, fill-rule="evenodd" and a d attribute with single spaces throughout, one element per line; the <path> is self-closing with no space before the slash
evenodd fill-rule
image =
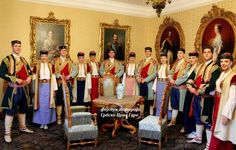
<path id="1" fill-rule="evenodd" d="M 166 17 L 159 27 L 156 36 L 155 49 L 157 60 L 160 53 L 167 53 L 168 63 L 171 65 L 177 58 L 177 50 L 185 47 L 184 33 L 180 24 L 170 17 Z"/>

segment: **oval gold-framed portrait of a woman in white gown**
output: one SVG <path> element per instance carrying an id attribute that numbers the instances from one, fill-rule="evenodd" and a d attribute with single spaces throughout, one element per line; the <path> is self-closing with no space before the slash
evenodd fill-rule
<path id="1" fill-rule="evenodd" d="M 230 11 L 213 5 L 207 15 L 201 19 L 201 24 L 195 39 L 195 48 L 202 59 L 202 48 L 212 46 L 213 59 L 220 54 L 230 52 L 236 57 L 236 15 Z"/>

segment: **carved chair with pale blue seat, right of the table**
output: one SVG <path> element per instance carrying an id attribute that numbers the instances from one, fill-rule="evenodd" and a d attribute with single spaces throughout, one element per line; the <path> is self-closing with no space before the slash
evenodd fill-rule
<path id="1" fill-rule="evenodd" d="M 169 103 L 169 86 L 163 91 L 160 113 L 157 116 L 149 115 L 139 121 L 138 137 L 139 144 L 156 144 L 161 149 L 162 139 L 165 137 L 167 140 L 166 129 L 167 129 L 167 111 Z M 158 109 L 158 108 L 156 108 Z"/>

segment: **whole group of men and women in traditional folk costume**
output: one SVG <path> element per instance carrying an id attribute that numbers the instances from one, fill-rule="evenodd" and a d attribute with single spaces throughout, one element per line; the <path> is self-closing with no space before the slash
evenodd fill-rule
<path id="1" fill-rule="evenodd" d="M 12 141 L 11 126 L 13 116 L 17 113 L 20 131 L 33 133 L 25 123 L 25 113 L 32 99 L 33 122 L 40 124 L 40 128 L 47 129 L 47 125 L 56 120 L 57 124 L 62 123 L 63 79 L 69 88 L 71 105 L 91 105 L 91 111 L 95 113 L 93 100 L 99 97 L 99 78 L 109 74 L 122 78 L 125 95 L 144 97 L 145 115 L 160 114 L 160 109 L 153 108 L 160 108 L 157 106 L 161 105 L 165 94 L 163 91 L 168 87 L 169 107 L 172 109 L 168 126 L 176 125 L 177 116 L 182 115 L 181 131 L 189 139 L 187 142 L 202 143 L 205 126 L 206 149 L 215 149 L 219 145 L 233 148 L 236 144 L 235 136 L 232 136 L 232 132 L 236 133 L 236 73 L 231 69 L 233 58 L 230 54 L 223 54 L 219 58 L 221 69 L 213 61 L 211 47 L 203 48 L 204 61 L 201 64 L 196 51 L 190 52 L 187 60 L 185 50 L 180 48 L 173 66 L 168 64 L 166 53 L 160 54 L 158 65 L 151 57 L 151 47 L 145 48 L 145 58 L 139 64 L 135 62 L 136 54 L 130 52 L 128 63 L 123 65 L 116 60 L 114 49 L 109 50 L 109 58 L 101 64 L 96 62 L 94 51 L 89 53 L 88 62 L 84 59 L 85 54 L 78 52 L 78 63 L 74 63 L 67 47 L 61 46 L 60 57 L 53 63 L 48 61 L 47 51 L 40 51 L 40 61 L 32 69 L 20 56 L 21 42 L 14 40 L 11 44 L 12 54 L 4 58 L 0 66 L 0 77 L 8 82 L 2 103 L 6 114 L 4 138 L 8 143 Z M 30 89 L 32 79 L 34 88 Z"/>

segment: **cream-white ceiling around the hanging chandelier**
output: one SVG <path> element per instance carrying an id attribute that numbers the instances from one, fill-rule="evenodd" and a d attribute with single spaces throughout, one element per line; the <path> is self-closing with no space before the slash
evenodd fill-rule
<path id="1" fill-rule="evenodd" d="M 21 0 L 31 3 L 41 3 L 63 7 L 82 8 L 100 12 L 124 14 L 151 18 L 156 17 L 155 10 L 147 6 L 145 0 Z M 223 0 L 172 0 L 166 4 L 161 15 L 184 11 L 204 5 L 213 4 Z"/>

